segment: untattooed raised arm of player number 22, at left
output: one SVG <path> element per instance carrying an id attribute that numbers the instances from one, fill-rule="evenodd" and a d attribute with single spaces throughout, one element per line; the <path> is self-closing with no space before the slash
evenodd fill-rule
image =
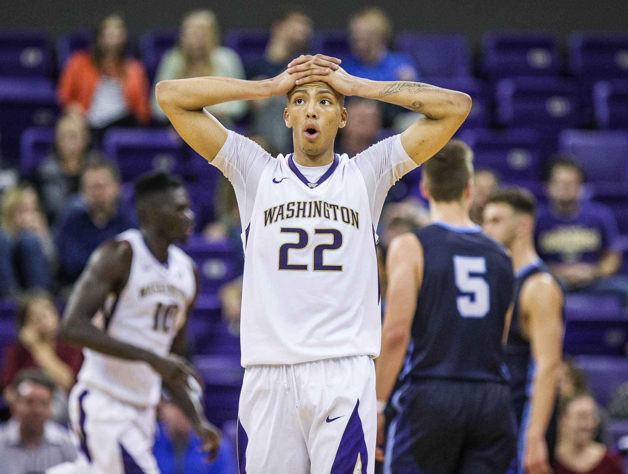
<path id="1" fill-rule="evenodd" d="M 296 63 L 308 62 L 297 58 Z M 308 62 L 308 69 L 299 74 L 284 71 L 272 79 L 242 80 L 230 77 L 194 77 L 162 80 L 156 86 L 157 102 L 176 131 L 188 145 L 211 162 L 227 140 L 227 129 L 203 110 L 203 107 L 230 101 L 249 101 L 282 96 L 295 85 L 295 80 L 311 74 L 328 74 L 340 60 L 330 57 Z"/>

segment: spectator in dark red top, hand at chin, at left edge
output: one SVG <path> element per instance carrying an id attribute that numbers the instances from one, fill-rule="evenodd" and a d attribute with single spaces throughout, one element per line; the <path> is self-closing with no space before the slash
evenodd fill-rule
<path id="1" fill-rule="evenodd" d="M 68 346 L 58 336 L 59 313 L 50 295 L 32 291 L 22 295 L 18 306 L 18 338 L 4 348 L 1 383 L 4 399 L 16 397 L 11 383 L 24 368 L 40 368 L 55 383 L 53 419 L 68 421 L 67 399 L 83 363 L 80 349 Z"/>

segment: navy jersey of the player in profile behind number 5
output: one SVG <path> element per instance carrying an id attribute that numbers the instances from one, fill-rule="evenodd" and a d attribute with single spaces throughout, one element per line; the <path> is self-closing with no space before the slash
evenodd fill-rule
<path id="1" fill-rule="evenodd" d="M 531 356 L 530 343 L 521 332 L 521 314 L 519 314 L 519 298 L 521 289 L 529 277 L 537 273 L 549 273 L 548 267 L 539 258 L 517 271 L 512 295 L 512 321 L 506 344 L 506 363 L 511 375 L 512 404 L 517 416 L 517 423 L 521 423 L 524 405 L 529 397 L 529 390 L 534 377 L 534 361 Z"/>

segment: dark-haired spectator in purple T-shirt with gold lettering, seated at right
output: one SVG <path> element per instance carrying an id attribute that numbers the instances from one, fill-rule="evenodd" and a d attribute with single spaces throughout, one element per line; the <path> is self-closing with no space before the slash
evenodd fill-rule
<path id="1" fill-rule="evenodd" d="M 584 173 L 569 156 L 549 167 L 549 205 L 539 209 L 536 248 L 571 292 L 617 294 L 628 304 L 628 278 L 621 265 L 618 230 L 609 208 L 583 199 Z"/>

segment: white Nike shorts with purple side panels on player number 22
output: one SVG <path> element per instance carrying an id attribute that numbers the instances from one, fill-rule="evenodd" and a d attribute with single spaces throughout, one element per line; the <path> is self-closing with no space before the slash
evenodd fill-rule
<path id="1" fill-rule="evenodd" d="M 246 474 L 372 474 L 377 436 L 370 356 L 247 367 L 237 449 Z"/>

